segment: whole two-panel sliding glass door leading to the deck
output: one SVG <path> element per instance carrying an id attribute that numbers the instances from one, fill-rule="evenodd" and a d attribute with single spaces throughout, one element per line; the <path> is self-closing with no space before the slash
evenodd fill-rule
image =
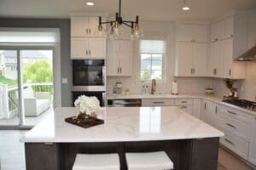
<path id="1" fill-rule="evenodd" d="M 53 48 L 0 48 L 0 127 L 32 127 L 52 113 Z"/>

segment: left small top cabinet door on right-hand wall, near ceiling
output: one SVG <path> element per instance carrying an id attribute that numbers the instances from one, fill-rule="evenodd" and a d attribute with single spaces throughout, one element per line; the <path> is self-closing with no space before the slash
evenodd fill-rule
<path id="1" fill-rule="evenodd" d="M 224 39 L 224 20 L 218 21 L 211 26 L 211 42 Z"/>

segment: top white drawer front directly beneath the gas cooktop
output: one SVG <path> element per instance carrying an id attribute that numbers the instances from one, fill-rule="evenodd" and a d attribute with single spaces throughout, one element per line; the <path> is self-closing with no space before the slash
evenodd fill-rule
<path id="1" fill-rule="evenodd" d="M 234 109 L 230 109 L 228 107 L 225 107 L 223 105 L 218 107 L 218 113 L 219 114 L 223 114 L 225 116 L 229 116 L 232 117 L 236 120 L 240 120 L 242 122 L 249 122 L 248 121 L 248 114 L 246 112 L 242 112 L 242 111 L 236 111 Z"/>

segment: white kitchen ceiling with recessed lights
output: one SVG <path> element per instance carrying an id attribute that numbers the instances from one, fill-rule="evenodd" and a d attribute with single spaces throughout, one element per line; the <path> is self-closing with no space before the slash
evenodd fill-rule
<path id="1" fill-rule="evenodd" d="M 91 1 L 95 6 L 85 3 Z M 256 0 L 187 0 L 188 12 L 181 10 L 183 0 L 123 0 L 122 13 L 141 20 L 211 20 L 234 9 L 256 8 Z M 119 0 L 0 0 L 0 17 L 68 18 L 70 13 L 103 12 L 114 14 Z"/>

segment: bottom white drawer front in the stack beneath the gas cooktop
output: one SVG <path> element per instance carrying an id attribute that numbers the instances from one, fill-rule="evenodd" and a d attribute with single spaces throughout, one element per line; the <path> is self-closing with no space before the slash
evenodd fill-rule
<path id="1" fill-rule="evenodd" d="M 225 147 L 234 151 L 238 156 L 246 159 L 248 158 L 248 142 L 244 139 L 239 139 L 236 136 L 231 135 L 228 132 L 225 132 L 225 136 L 219 139 L 220 144 L 223 144 Z"/>

